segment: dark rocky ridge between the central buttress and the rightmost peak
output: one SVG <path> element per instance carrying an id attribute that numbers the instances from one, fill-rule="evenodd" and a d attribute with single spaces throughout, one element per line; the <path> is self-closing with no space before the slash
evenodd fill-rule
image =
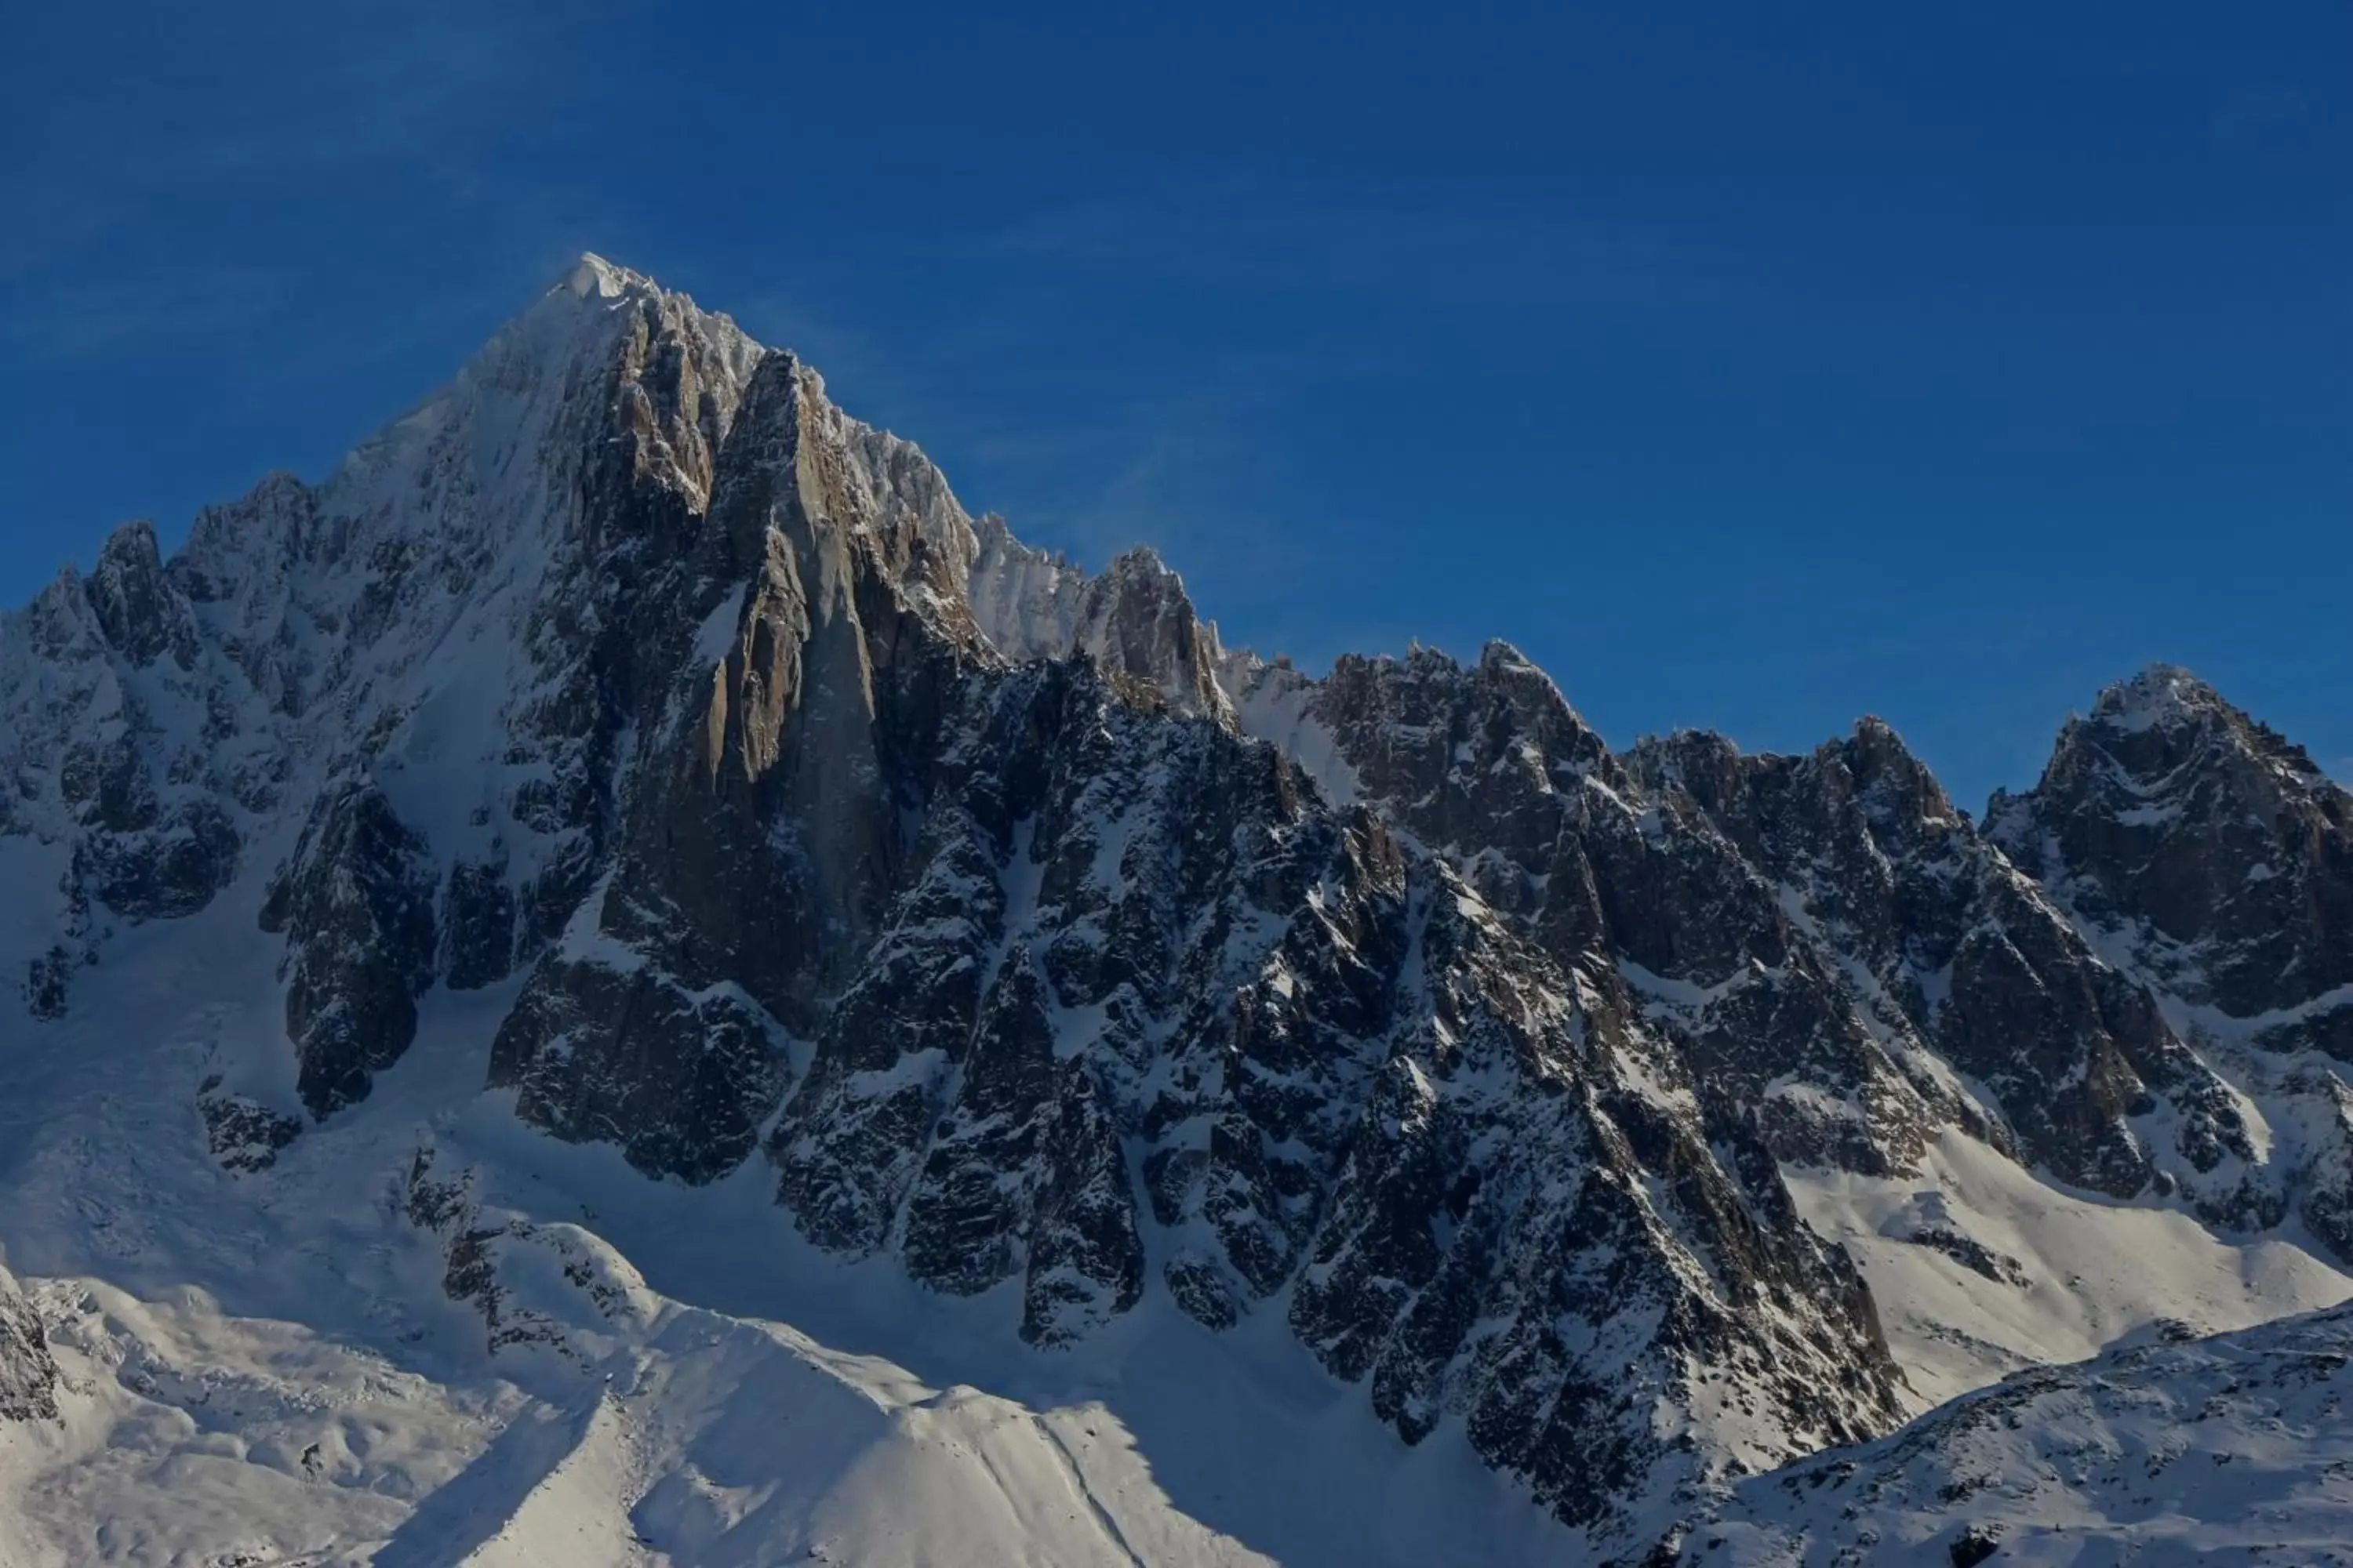
<path id="1" fill-rule="evenodd" d="M 2198 1168 L 2245 1143 L 2148 994 L 1875 719 L 1812 757 L 1697 733 L 1614 757 L 1501 644 L 1341 661 L 1292 701 L 1351 790 L 1551 954 L 1617 969 L 1711 1117 L 1755 1107 L 1779 1159 L 1889 1173 L 1962 1126 L 2129 1197 L 2169 1159 L 2129 1124 L 2158 1095 Z"/>

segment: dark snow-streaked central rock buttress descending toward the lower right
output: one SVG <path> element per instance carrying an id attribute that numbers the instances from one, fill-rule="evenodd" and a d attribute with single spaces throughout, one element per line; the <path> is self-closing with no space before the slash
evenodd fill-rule
<path id="1" fill-rule="evenodd" d="M 925 867 L 772 1140 L 816 1241 L 1019 1276 L 1059 1340 L 1136 1300 L 1148 1208 L 1186 1312 L 1289 1291 L 1405 1436 L 1457 1415 L 1595 1528 L 1699 1467 L 1642 1415 L 1661 1389 L 1734 1375 L 1793 1446 L 1889 1420 L 1861 1284 L 1751 1121 L 1725 1164 L 1614 973 L 1214 722 L 1082 665 L 976 689 Z"/>

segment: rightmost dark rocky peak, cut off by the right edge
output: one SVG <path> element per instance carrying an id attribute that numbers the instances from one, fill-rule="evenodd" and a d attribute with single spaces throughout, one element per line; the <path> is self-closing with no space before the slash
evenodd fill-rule
<path id="1" fill-rule="evenodd" d="M 2153 992 L 2202 1060 L 2278 1100 L 2254 1159 L 2212 1086 L 2184 1124 L 2202 1218 L 2297 1213 L 2353 1260 L 2353 795 L 2304 748 L 2186 670 L 2151 665 L 2059 733 L 2028 795 L 1995 795 L 1988 835 Z M 2287 1112 L 2287 1114 L 2278 1114 Z M 2212 1133 L 2212 1135 L 2209 1135 Z"/>

